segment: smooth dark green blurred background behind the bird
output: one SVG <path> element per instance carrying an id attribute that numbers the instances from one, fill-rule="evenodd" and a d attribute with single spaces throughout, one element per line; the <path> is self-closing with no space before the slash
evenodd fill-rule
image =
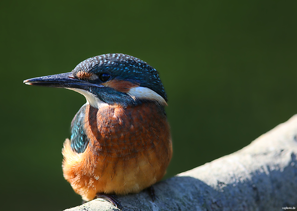
<path id="1" fill-rule="evenodd" d="M 168 94 L 172 177 L 297 113 L 297 1 L 1 1 L 1 210 L 81 203 L 61 148 L 85 98 L 24 79 L 105 53 L 138 57 Z M 268 143 L 269 144 L 269 143 Z"/>

